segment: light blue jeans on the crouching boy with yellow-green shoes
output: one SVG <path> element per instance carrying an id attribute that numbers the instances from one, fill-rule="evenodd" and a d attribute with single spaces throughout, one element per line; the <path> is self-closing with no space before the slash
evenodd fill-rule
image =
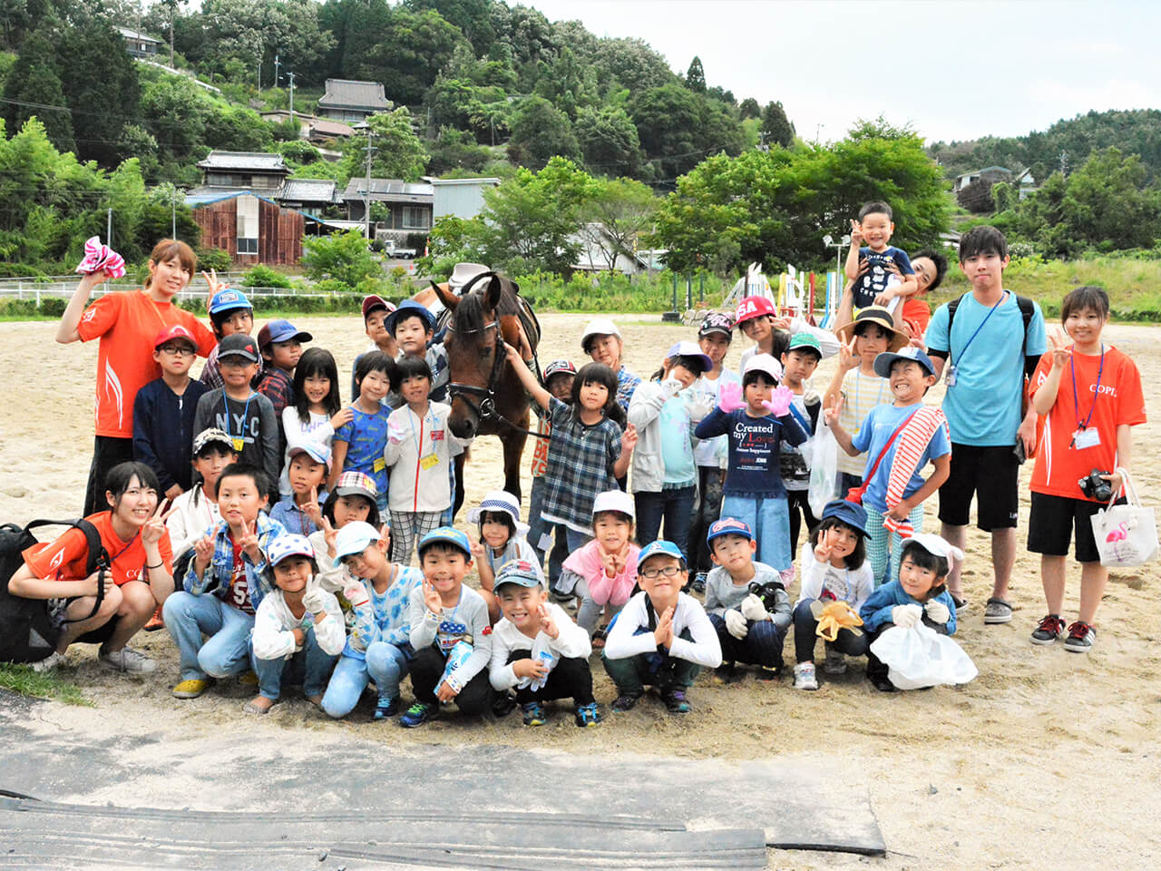
<path id="1" fill-rule="evenodd" d="M 182 681 L 231 677 L 250 668 L 253 614 L 228 605 L 217 596 L 178 591 L 161 609 L 165 628 L 178 646 Z M 209 636 L 202 643 L 202 635 Z"/>

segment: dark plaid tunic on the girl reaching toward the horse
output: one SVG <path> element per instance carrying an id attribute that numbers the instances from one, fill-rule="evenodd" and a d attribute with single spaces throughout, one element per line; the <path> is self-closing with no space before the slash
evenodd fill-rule
<path id="1" fill-rule="evenodd" d="M 597 494 L 616 489 L 613 463 L 621 455 L 621 427 L 607 417 L 585 426 L 555 396 L 549 405 L 553 437 L 545 472 L 545 520 L 577 532 L 592 531 Z"/>

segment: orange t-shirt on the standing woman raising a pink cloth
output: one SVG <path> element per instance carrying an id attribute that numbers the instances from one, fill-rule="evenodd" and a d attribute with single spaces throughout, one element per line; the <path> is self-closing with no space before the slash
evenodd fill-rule
<path id="1" fill-rule="evenodd" d="M 153 361 L 153 339 L 181 324 L 207 357 L 217 344 L 214 332 L 172 302 L 153 302 L 145 290 L 109 293 L 85 309 L 77 325 L 81 341 L 101 339 L 96 352 L 96 434 L 134 437 L 134 399 L 161 367 Z"/>

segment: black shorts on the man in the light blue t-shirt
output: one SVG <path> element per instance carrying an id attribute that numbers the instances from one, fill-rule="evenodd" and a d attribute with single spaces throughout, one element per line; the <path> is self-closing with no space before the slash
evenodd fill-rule
<path id="1" fill-rule="evenodd" d="M 973 495 L 976 526 L 985 532 L 1016 528 L 1019 462 L 1012 445 L 976 447 L 952 442 L 951 475 L 939 488 L 939 520 L 949 526 L 967 526 Z"/>

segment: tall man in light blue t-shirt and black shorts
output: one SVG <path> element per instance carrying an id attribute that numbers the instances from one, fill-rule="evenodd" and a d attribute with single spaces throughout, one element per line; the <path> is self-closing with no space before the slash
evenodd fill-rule
<path id="1" fill-rule="evenodd" d="M 928 326 L 928 354 L 940 375 L 946 369 L 943 410 L 951 430 L 951 476 L 939 489 L 943 537 L 959 548 L 967 541 L 972 496 L 976 524 L 991 533 L 995 581 L 983 612 L 986 624 L 1009 622 L 1008 582 L 1016 561 L 1019 460 L 1036 447 L 1036 412 L 1024 410 L 1024 380 L 1047 350 L 1040 307 L 1003 287 L 1008 240 L 993 226 L 976 226 L 959 243 L 959 268 L 972 293 L 939 307 Z M 1024 308 L 1031 317 L 1025 326 Z M 964 602 L 957 563 L 947 590 Z"/>

